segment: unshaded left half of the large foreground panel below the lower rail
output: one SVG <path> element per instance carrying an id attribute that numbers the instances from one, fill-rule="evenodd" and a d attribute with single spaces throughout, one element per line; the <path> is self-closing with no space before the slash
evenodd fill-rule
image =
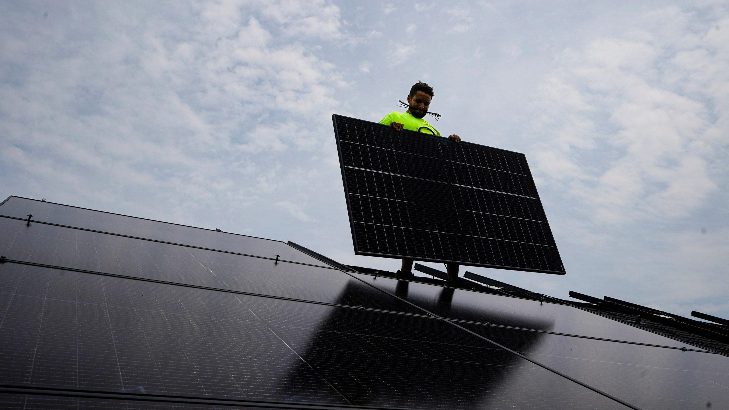
<path id="1" fill-rule="evenodd" d="M 0 384 L 347 403 L 231 293 L 5 263 L 0 298 Z"/>

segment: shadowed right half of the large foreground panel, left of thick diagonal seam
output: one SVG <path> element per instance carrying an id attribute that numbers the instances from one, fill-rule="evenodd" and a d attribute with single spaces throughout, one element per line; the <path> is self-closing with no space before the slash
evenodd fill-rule
<path id="1" fill-rule="evenodd" d="M 445 322 L 262 298 L 246 303 L 265 312 L 270 328 L 358 404 L 624 408 Z"/>

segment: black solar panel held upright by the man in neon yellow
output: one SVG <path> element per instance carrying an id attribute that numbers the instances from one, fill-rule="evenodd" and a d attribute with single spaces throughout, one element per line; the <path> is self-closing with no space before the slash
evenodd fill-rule
<path id="1" fill-rule="evenodd" d="M 565 273 L 523 154 L 332 118 L 357 255 Z"/>

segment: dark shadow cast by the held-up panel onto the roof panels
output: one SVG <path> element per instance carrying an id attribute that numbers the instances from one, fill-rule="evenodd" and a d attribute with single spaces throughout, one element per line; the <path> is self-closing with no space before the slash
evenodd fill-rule
<path id="1" fill-rule="evenodd" d="M 349 282 L 337 303 L 348 303 L 361 290 L 361 284 Z M 443 287 L 441 292 L 452 290 Z M 451 306 L 443 301 L 435 304 L 441 305 L 437 306 L 440 310 Z M 453 308 L 484 321 L 494 320 L 494 315 L 509 316 L 469 306 Z M 484 346 L 480 339 L 454 332 L 439 320 L 328 306 L 311 309 L 325 309 L 329 314 L 310 325 L 306 318 L 311 313 L 297 309 L 294 314 L 300 319 L 295 329 L 275 329 L 305 360 L 289 371 L 286 383 L 305 379 L 311 366 L 359 406 L 500 408 L 499 401 L 514 384 L 527 384 L 534 377 L 533 369 L 519 357 Z M 543 318 L 512 319 L 534 328 L 550 328 Z M 544 333 L 529 332 L 521 348 L 538 346 L 543 337 Z M 524 404 L 529 398 L 521 400 Z"/>

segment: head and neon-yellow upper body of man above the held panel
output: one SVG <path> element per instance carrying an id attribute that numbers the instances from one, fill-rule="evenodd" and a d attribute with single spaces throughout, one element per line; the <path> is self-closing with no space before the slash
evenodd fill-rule
<path id="1" fill-rule="evenodd" d="M 440 132 L 433 125 L 430 125 L 426 120 L 423 119 L 428 113 L 430 101 L 433 98 L 433 89 L 430 85 L 424 82 L 419 82 L 410 88 L 410 95 L 408 96 L 408 111 L 397 112 L 393 111 L 386 115 L 381 121 L 381 124 L 391 125 L 395 128 L 395 131 L 402 131 L 403 129 L 429 133 L 440 136 Z M 461 142 L 461 137 L 456 134 L 451 134 L 448 139 L 454 142 Z"/>

